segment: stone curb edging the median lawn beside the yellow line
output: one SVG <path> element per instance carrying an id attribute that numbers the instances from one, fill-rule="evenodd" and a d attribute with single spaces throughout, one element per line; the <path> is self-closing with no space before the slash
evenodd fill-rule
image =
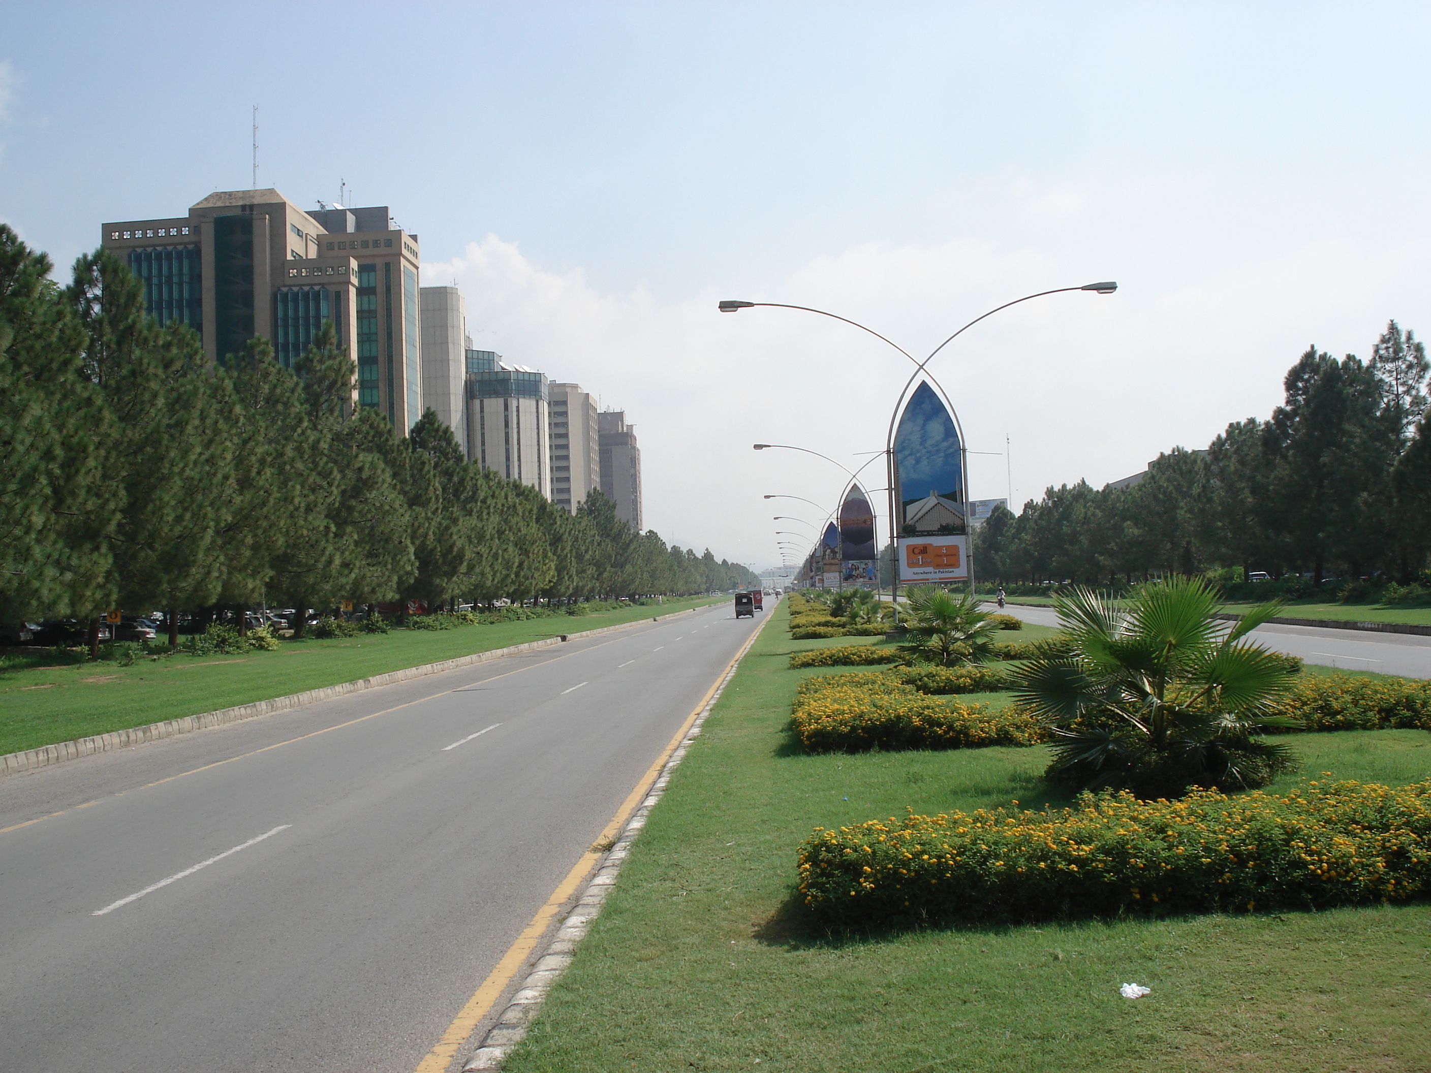
<path id="1" fill-rule="evenodd" d="M 774 609 L 774 608 L 771 608 Z M 611 851 L 602 858 L 601 864 L 597 867 L 597 874 L 587 883 L 587 888 L 581 894 L 581 900 L 577 903 L 575 908 L 567 916 L 557 930 L 557 934 L 547 944 L 542 956 L 537 959 L 537 964 L 532 966 L 531 973 L 522 980 L 522 986 L 517 989 L 507 1009 L 502 1010 L 502 1016 L 497 1019 L 497 1024 L 487 1030 L 482 1036 L 481 1044 L 472 1052 L 472 1057 L 467 1060 L 462 1066 L 462 1073 L 485 1073 L 487 1070 L 499 1070 L 502 1063 L 507 1060 L 508 1052 L 515 1047 L 527 1036 L 527 1030 L 531 1027 L 532 1019 L 541 1009 L 542 1001 L 547 999 L 547 991 L 551 986 L 561 979 L 561 974 L 571 964 L 571 959 L 577 951 L 577 943 L 580 943 L 587 931 L 591 929 L 591 921 L 601 914 L 601 906 L 605 903 L 607 896 L 615 887 L 617 874 L 621 871 L 621 866 L 625 863 L 627 856 L 631 853 L 631 843 L 635 841 L 637 836 L 641 834 L 641 828 L 645 827 L 647 817 L 655 807 L 655 803 L 661 800 L 665 793 L 667 784 L 671 781 L 671 773 L 675 771 L 677 765 L 685 757 L 687 750 L 701 733 L 701 725 L 705 722 L 705 717 L 711 714 L 716 708 L 716 702 L 720 700 L 721 694 L 726 692 L 726 687 L 730 680 L 736 677 L 736 671 L 740 670 L 740 664 L 746 660 L 746 654 L 750 651 L 751 645 L 756 644 L 756 638 L 760 637 L 760 631 L 766 628 L 766 622 L 770 621 L 767 615 L 766 619 L 756 627 L 756 632 L 750 635 L 746 641 L 746 647 L 740 650 L 740 655 L 730 665 L 730 670 L 720 680 L 720 685 L 716 687 L 716 692 L 701 708 L 700 714 L 691 722 L 691 728 L 685 731 L 685 737 L 681 738 L 681 744 L 677 745 L 671 755 L 667 758 L 665 764 L 661 767 L 661 773 L 655 777 L 651 788 L 647 791 L 645 797 L 641 798 L 641 804 L 637 805 L 635 811 L 631 813 L 631 818 L 627 820 L 625 827 L 621 828 L 621 836 L 617 838 L 617 844 L 611 847 Z"/>

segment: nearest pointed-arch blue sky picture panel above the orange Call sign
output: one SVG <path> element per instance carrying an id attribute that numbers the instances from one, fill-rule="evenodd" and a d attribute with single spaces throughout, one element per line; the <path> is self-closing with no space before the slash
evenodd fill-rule
<path id="1" fill-rule="evenodd" d="M 929 383 L 910 395 L 894 432 L 894 504 L 902 534 L 966 531 L 963 445 Z"/>

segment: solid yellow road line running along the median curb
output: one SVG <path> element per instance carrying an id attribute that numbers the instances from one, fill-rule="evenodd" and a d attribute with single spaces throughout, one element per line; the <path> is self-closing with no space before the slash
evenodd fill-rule
<path id="1" fill-rule="evenodd" d="M 764 628 L 768 621 L 768 618 L 761 621 L 760 627 L 757 627 L 750 637 L 746 638 L 746 644 L 740 647 L 740 651 L 736 652 L 736 655 L 731 657 L 731 661 L 726 664 L 720 674 L 716 675 L 716 681 L 711 682 L 705 695 L 701 697 L 700 704 L 697 704 L 691 714 L 685 717 L 681 728 L 675 733 L 670 743 L 667 743 L 665 748 L 661 750 L 661 755 L 657 757 L 651 767 L 645 770 L 645 774 L 637 780 L 635 788 L 627 795 L 627 800 L 621 803 L 621 807 L 617 808 L 611 821 L 601 830 L 601 837 L 597 838 L 598 844 L 610 840 L 622 827 L 625 827 L 625 821 L 631 817 L 631 813 L 634 813 L 637 805 L 641 804 L 648 793 L 651 793 L 651 785 L 661 774 L 661 768 L 665 767 L 665 761 L 668 761 L 671 754 L 680 748 L 680 744 L 690 733 L 691 725 L 700 717 L 705 705 L 710 704 L 716 690 L 718 690 L 720 684 L 726 681 L 726 675 L 728 675 L 731 668 L 740 662 L 741 657 L 750 651 L 750 647 L 760 635 L 760 629 Z M 439 1039 L 422 1062 L 418 1063 L 414 1073 L 445 1073 L 446 1067 L 452 1063 L 452 1057 L 456 1054 L 458 1047 L 461 1047 L 462 1043 L 467 1042 L 467 1037 L 472 1034 L 478 1021 L 481 1021 L 482 1017 L 491 1011 L 492 1004 L 502 996 L 508 984 L 511 984 L 517 970 L 522 967 L 522 961 L 525 961 L 531 951 L 537 949 L 537 943 L 547 933 L 551 918 L 557 916 L 557 911 L 565 904 L 567 898 L 571 897 L 572 891 L 575 891 L 581 881 L 587 877 L 591 871 L 591 866 L 604 856 L 605 853 L 592 853 L 591 850 L 581 856 L 581 860 L 571 867 L 567 877 L 557 884 L 557 890 L 554 890 L 551 897 L 547 898 L 547 904 L 537 910 L 537 916 L 534 916 L 531 923 L 522 929 L 522 933 L 517 936 L 512 944 L 507 949 L 507 953 L 502 954 L 501 960 L 492 967 L 492 971 L 487 974 L 487 979 L 482 980 L 481 986 L 472 993 L 472 997 L 467 1000 L 467 1004 L 462 1006 L 456 1017 L 452 1019 L 446 1032 L 442 1033 L 442 1039 Z"/>

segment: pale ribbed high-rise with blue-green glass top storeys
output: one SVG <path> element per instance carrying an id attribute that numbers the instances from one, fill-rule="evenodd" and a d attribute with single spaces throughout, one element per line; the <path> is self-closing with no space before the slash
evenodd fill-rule
<path id="1" fill-rule="evenodd" d="M 467 352 L 467 456 L 551 498 L 547 376 Z"/>

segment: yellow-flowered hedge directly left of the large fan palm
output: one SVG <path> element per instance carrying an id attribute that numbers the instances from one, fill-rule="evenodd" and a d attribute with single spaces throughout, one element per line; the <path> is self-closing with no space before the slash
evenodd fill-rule
<path id="1" fill-rule="evenodd" d="M 791 722 L 810 753 L 1035 745 L 1043 727 L 1013 710 L 926 697 L 887 672 L 807 678 Z"/>

